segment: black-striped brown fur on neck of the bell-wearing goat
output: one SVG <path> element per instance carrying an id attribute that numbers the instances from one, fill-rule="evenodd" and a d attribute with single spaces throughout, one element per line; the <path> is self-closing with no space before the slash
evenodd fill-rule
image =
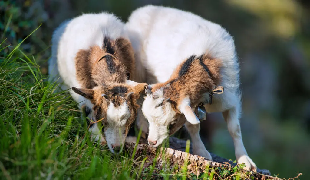
<path id="1" fill-rule="evenodd" d="M 155 84 L 152 92 L 162 88 L 163 96 L 176 102 L 176 105 L 180 104 L 186 96 L 190 98 L 192 105 L 199 103 L 198 100 L 202 94 L 220 83 L 222 61 L 212 59 L 208 54 L 190 58 L 175 69 L 167 82 Z M 205 66 L 201 65 L 200 61 Z M 175 110 L 178 109 L 176 105 L 173 106 Z"/>

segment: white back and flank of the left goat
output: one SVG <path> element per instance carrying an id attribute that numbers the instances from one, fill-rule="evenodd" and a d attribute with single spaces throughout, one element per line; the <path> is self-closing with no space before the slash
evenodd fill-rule
<path id="1" fill-rule="evenodd" d="M 102 47 L 104 37 L 115 40 L 118 37 L 128 39 L 124 23 L 116 16 L 108 13 L 83 14 L 62 23 L 52 36 L 52 57 L 49 70 L 50 79 L 61 78 L 64 85 L 61 88 L 82 88 L 76 78 L 75 58 L 81 49 L 89 49 L 93 45 Z M 58 69 L 58 72 L 55 71 Z M 76 93 L 72 93 L 79 100 Z"/>

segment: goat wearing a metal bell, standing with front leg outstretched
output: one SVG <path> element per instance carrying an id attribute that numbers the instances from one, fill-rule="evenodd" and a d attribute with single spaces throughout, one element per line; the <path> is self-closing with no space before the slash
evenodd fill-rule
<path id="1" fill-rule="evenodd" d="M 145 90 L 142 105 L 149 123 L 148 144 L 157 147 L 185 123 L 193 153 L 211 160 L 193 111 L 203 104 L 208 113 L 222 112 L 237 162 L 245 163 L 246 170 L 256 171 L 241 137 L 240 69 L 232 36 L 220 25 L 193 13 L 152 5 L 135 10 L 126 28 L 136 39 L 147 83 L 157 82 Z"/>

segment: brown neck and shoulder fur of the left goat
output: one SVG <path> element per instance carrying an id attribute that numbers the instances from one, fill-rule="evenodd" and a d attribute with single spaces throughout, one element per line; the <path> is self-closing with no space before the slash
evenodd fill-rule
<path id="1" fill-rule="evenodd" d="M 99 84 L 107 84 L 109 82 L 123 83 L 126 81 L 128 74 L 131 78 L 135 77 L 135 59 L 131 43 L 124 38 L 117 38 L 115 41 L 105 38 L 104 44 L 108 46 L 100 47 L 94 45 L 89 50 L 81 49 L 78 51 L 75 58 L 76 76 L 81 83 L 82 88 L 92 89 Z M 113 48 L 111 51 L 108 48 Z M 117 59 L 111 60 L 113 62 L 113 72 L 107 65 L 106 58 L 99 61 L 95 66 L 94 62 L 100 58 L 104 53 L 113 52 Z"/>

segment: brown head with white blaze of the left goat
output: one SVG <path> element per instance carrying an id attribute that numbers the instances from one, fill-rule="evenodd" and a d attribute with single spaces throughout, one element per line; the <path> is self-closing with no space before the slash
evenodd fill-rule
<path id="1" fill-rule="evenodd" d="M 146 83 L 127 80 L 126 83 L 99 85 L 93 89 L 72 88 L 93 104 L 92 119 L 104 124 L 104 135 L 112 153 L 122 151 L 131 123 L 137 116 L 137 100 Z M 99 123 L 101 123 L 99 122 Z"/>

